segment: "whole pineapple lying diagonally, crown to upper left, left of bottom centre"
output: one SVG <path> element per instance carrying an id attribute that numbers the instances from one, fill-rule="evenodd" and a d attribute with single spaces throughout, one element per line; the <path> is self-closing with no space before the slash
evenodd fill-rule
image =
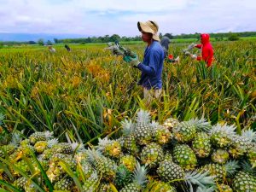
<path id="1" fill-rule="evenodd" d="M 117 165 L 113 160 L 103 156 L 100 151 L 91 150 L 86 151 L 88 154 L 88 161 L 94 166 L 99 176 L 103 180 L 113 181 L 116 176 Z"/>

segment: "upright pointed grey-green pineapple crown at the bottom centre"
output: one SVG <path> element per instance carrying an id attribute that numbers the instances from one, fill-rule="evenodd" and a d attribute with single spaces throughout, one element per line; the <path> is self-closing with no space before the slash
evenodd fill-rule
<path id="1" fill-rule="evenodd" d="M 137 183 L 139 186 L 144 186 L 147 182 L 147 173 L 148 170 L 146 166 L 141 166 L 137 161 L 136 169 L 133 172 L 133 183 Z"/>

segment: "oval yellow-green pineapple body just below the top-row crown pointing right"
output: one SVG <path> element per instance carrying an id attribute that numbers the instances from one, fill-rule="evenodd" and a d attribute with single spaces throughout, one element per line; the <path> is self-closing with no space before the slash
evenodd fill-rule
<path id="1" fill-rule="evenodd" d="M 205 158 L 211 154 L 212 144 L 206 132 L 196 133 L 195 139 L 192 142 L 192 149 L 199 158 Z"/>

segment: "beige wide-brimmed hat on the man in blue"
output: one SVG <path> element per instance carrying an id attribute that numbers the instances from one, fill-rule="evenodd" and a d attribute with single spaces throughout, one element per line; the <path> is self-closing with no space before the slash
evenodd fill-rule
<path id="1" fill-rule="evenodd" d="M 153 39 L 156 41 L 160 41 L 159 36 L 157 35 L 158 32 L 158 25 L 155 21 L 148 20 L 146 22 L 137 22 L 137 28 L 140 32 L 149 32 L 153 34 Z"/>

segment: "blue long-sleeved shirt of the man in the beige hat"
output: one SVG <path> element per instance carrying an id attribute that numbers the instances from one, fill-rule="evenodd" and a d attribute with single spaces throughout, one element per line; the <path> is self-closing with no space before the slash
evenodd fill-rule
<path id="1" fill-rule="evenodd" d="M 153 41 L 145 49 L 143 62 L 138 64 L 138 69 L 142 71 L 138 84 L 148 90 L 158 90 L 162 88 L 162 71 L 165 53 L 158 41 Z"/>

